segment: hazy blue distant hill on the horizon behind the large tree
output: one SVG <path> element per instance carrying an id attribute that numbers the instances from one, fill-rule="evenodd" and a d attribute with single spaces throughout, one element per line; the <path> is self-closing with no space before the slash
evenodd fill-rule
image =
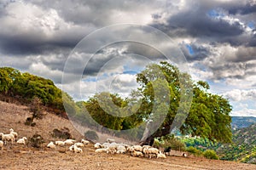
<path id="1" fill-rule="evenodd" d="M 239 129 L 243 127 L 249 127 L 253 123 L 256 123 L 256 117 L 253 116 L 232 116 L 231 127 Z"/>

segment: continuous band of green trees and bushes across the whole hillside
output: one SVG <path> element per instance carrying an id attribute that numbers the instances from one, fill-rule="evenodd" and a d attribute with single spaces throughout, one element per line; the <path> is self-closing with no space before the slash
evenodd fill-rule
<path id="1" fill-rule="evenodd" d="M 164 140 L 165 144 L 171 144 L 172 148 L 185 150 L 179 140 L 168 139 L 170 132 L 175 130 L 172 124 L 176 123 L 174 120 L 177 117 L 180 122 L 184 121 L 180 127 L 182 134 L 200 135 L 201 139 L 207 139 L 207 142 L 204 142 L 209 142 L 210 145 L 216 142 L 231 142 L 231 105 L 222 96 L 209 93 L 207 82 L 194 82 L 187 73 L 179 71 L 176 66 L 166 61 L 148 65 L 137 74 L 137 82 L 140 87 L 127 99 L 122 99 L 119 94 L 103 92 L 95 94 L 88 101 L 75 103 L 72 97 L 62 93 L 49 79 L 27 72 L 21 73 L 9 67 L 0 68 L 2 95 L 26 103 L 37 99 L 38 105 L 42 102 L 42 105 L 53 108 L 56 112 L 67 111 L 69 118 L 79 120 L 85 126 L 102 133 L 110 133 L 109 129 L 113 129 L 116 136 L 125 135 L 121 137 L 129 139 L 143 137 L 142 144 L 153 144 L 154 139 L 158 138 Z M 193 96 L 187 118 L 182 111 L 186 111 L 190 104 L 181 94 L 189 99 L 189 94 Z M 177 114 L 178 111 L 181 111 L 181 114 Z M 38 107 L 32 108 L 32 113 L 33 116 L 29 117 L 31 119 L 28 122 L 30 125 L 33 118 L 41 116 Z M 160 120 L 160 126 L 150 123 L 154 120 Z M 119 133 L 134 127 L 138 130 Z M 156 131 L 144 135 L 145 132 L 150 132 L 151 128 Z"/>

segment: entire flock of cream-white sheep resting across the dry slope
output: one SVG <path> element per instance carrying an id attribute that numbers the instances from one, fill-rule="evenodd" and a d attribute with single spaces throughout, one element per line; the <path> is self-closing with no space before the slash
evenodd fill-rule
<path id="1" fill-rule="evenodd" d="M 26 144 L 26 137 L 21 139 L 18 138 L 18 133 L 16 133 L 12 128 L 9 129 L 9 133 L 0 133 L 0 148 L 3 150 L 3 146 L 7 144 L 7 142 L 11 142 L 13 144 L 16 142 L 17 144 Z M 65 141 L 55 141 L 49 142 L 47 147 L 50 149 L 55 149 L 56 146 L 69 146 L 69 150 L 74 153 L 82 153 L 83 147 L 86 144 L 90 144 L 90 141 L 82 139 L 80 142 L 76 142 L 74 139 L 67 139 Z M 161 152 L 159 149 L 154 148 L 150 145 L 129 145 L 129 144 L 118 144 L 114 141 L 114 139 L 107 139 L 104 144 L 96 143 L 94 144 L 94 148 L 96 149 L 96 153 L 108 153 L 108 154 L 126 154 L 129 153 L 131 156 L 145 156 L 148 158 L 156 157 L 156 158 L 166 158 L 166 154 L 170 152 L 170 150 L 164 150 Z"/>

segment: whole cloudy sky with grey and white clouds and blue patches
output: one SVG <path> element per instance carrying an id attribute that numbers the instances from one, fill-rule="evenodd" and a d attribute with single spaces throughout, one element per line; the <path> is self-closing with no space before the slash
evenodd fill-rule
<path id="1" fill-rule="evenodd" d="M 255 27 L 255 0 L 1 0 L 0 66 L 52 79 L 74 99 L 127 96 L 136 73 L 171 51 L 230 99 L 232 116 L 256 116 Z"/>

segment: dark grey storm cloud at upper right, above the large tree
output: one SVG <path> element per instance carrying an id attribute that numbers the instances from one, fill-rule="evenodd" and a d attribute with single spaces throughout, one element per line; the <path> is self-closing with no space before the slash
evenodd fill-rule
<path id="1" fill-rule="evenodd" d="M 165 31 L 172 36 L 196 37 L 207 39 L 210 42 L 229 42 L 232 45 L 238 45 L 234 37 L 240 36 L 244 32 L 241 23 L 235 21 L 229 23 L 221 18 L 212 18 L 207 14 L 209 9 L 198 7 L 198 9 L 189 8 L 171 15 L 166 24 L 153 23 L 152 26 Z"/>

